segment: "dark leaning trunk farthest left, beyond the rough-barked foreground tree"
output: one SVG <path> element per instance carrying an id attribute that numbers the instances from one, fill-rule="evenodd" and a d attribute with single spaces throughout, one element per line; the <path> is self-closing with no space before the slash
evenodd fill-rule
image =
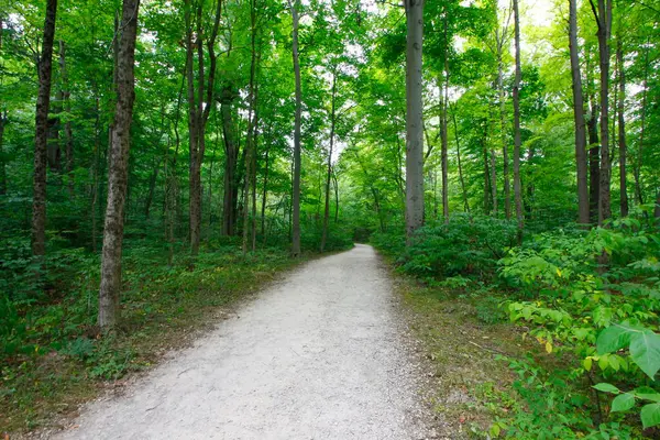
<path id="1" fill-rule="evenodd" d="M 57 0 L 47 0 L 42 55 L 38 61 L 32 198 L 32 254 L 40 257 L 46 253 L 46 156 L 56 13 Z"/>

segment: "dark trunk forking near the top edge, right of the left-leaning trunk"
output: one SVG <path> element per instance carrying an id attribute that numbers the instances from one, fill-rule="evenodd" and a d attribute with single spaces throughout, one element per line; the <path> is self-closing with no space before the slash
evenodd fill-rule
<path id="1" fill-rule="evenodd" d="M 593 7 L 593 0 L 592 7 Z M 598 193 L 598 226 L 612 217 L 609 180 L 609 33 L 612 29 L 612 0 L 597 0 L 598 59 L 601 63 L 601 180 Z"/>

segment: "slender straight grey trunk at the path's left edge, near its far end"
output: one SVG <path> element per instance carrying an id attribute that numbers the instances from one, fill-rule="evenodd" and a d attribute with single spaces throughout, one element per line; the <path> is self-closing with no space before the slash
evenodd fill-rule
<path id="1" fill-rule="evenodd" d="M 300 86 L 300 61 L 298 59 L 298 9 L 300 0 L 289 2 L 293 16 L 292 55 L 296 76 L 296 116 L 294 127 L 294 182 L 293 182 L 293 219 L 292 219 L 292 256 L 300 255 L 300 119 L 302 113 L 302 91 Z"/>

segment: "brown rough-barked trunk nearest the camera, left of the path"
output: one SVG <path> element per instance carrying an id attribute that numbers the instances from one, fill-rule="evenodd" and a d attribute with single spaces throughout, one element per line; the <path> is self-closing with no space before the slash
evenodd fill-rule
<path id="1" fill-rule="evenodd" d="M 101 286 L 99 290 L 99 327 L 106 331 L 119 319 L 121 293 L 121 249 L 124 226 L 124 201 L 128 184 L 131 122 L 135 100 L 135 40 L 140 0 L 124 0 L 122 33 L 117 63 L 117 103 L 112 125 L 108 169 L 108 205 L 103 228 Z"/>

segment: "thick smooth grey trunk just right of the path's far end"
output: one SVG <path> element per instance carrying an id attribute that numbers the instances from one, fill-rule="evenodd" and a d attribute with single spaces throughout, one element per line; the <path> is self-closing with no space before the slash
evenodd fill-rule
<path id="1" fill-rule="evenodd" d="M 424 224 L 424 105 L 421 48 L 424 0 L 405 0 L 406 6 L 406 238 Z"/>

